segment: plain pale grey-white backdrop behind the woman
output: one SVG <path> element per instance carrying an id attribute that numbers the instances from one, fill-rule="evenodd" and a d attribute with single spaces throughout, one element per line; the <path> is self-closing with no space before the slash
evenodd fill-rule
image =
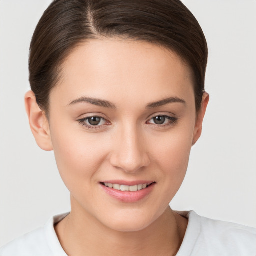
<path id="1" fill-rule="evenodd" d="M 0 0 L 0 245 L 69 211 L 53 152 L 35 143 L 23 97 L 28 50 L 50 0 Z M 256 0 L 183 0 L 209 47 L 210 102 L 176 210 L 256 227 Z"/>

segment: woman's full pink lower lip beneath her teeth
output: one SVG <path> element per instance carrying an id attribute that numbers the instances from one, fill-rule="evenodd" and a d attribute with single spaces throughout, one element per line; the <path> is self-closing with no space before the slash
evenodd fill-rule
<path id="1" fill-rule="evenodd" d="M 137 201 L 143 199 L 144 197 L 146 197 L 152 191 L 155 183 L 152 183 L 150 186 L 148 186 L 144 189 L 132 191 L 132 192 L 113 189 L 113 188 L 107 187 L 103 184 L 100 184 L 100 185 L 108 195 L 110 195 L 111 197 L 113 197 L 119 201 L 137 202 Z"/>

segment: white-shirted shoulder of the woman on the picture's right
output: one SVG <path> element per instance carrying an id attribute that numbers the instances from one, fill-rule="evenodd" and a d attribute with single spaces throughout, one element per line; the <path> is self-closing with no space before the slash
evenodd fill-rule
<path id="1" fill-rule="evenodd" d="M 187 255 L 256 255 L 256 228 L 202 217 L 194 211 L 183 215 L 188 226 L 180 249 L 189 248 Z"/>

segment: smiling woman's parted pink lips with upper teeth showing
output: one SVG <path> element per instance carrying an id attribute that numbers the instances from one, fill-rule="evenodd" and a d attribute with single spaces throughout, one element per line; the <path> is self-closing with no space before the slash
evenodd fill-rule
<path id="1" fill-rule="evenodd" d="M 154 181 L 118 181 L 100 182 L 103 190 L 112 198 L 121 202 L 137 202 L 148 196 L 156 182 Z"/>

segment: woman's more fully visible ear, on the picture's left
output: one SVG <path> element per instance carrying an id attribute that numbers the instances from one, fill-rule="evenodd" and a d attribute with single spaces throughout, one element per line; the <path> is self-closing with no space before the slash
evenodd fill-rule
<path id="1" fill-rule="evenodd" d="M 25 94 L 25 107 L 37 145 L 46 151 L 53 150 L 47 117 L 38 106 L 35 95 L 31 90 Z"/>

